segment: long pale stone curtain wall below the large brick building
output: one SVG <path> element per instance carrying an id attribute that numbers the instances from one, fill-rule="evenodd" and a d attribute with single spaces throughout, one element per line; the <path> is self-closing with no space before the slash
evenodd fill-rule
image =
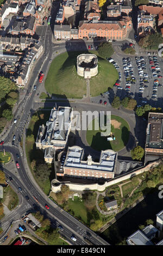
<path id="1" fill-rule="evenodd" d="M 131 178 L 134 175 L 138 175 L 140 173 L 147 172 L 151 168 L 154 168 L 154 167 L 158 166 L 158 164 L 160 162 L 161 162 L 161 160 L 149 163 L 149 164 L 147 164 L 146 166 L 144 166 L 142 168 L 139 168 L 139 169 L 136 169 L 136 170 L 133 170 L 133 171 L 129 172 L 128 174 L 124 174 L 124 175 L 118 176 L 117 178 L 106 181 L 103 185 L 99 185 L 98 183 L 95 183 L 95 184 L 74 184 L 74 183 L 71 183 L 71 182 L 63 182 L 63 183 L 60 183 L 60 185 L 58 185 L 58 186 L 54 186 L 54 184 L 53 184 L 54 180 L 52 180 L 52 182 L 51 182 L 52 192 L 54 192 L 54 193 L 59 192 L 62 184 L 65 184 L 65 185 L 69 186 L 70 190 L 73 190 L 73 191 L 97 190 L 99 192 L 102 192 L 102 191 L 105 190 L 106 187 L 117 184 L 118 182 L 121 182 L 123 180 L 127 180 L 127 179 Z"/>

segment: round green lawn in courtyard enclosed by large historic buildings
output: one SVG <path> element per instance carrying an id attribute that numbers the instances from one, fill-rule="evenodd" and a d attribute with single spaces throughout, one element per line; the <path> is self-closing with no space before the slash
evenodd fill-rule
<path id="1" fill-rule="evenodd" d="M 111 120 L 116 120 L 120 124 L 118 129 L 114 126 L 113 135 L 116 139 L 114 141 L 107 141 L 106 137 L 101 136 L 101 130 L 95 130 L 94 119 L 92 121 L 92 130 L 87 130 L 86 132 L 86 140 L 91 148 L 98 151 L 112 149 L 117 152 L 127 145 L 130 131 L 127 121 L 117 115 L 111 115 Z"/>

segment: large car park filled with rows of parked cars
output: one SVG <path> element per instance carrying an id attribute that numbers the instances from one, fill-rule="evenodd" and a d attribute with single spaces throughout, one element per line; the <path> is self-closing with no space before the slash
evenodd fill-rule
<path id="1" fill-rule="evenodd" d="M 150 62 L 150 63 L 149 63 Z M 120 81 L 115 84 L 114 94 L 123 99 L 130 96 L 138 106 L 149 104 L 163 107 L 163 62 L 158 56 L 131 56 L 114 59 L 121 73 Z M 157 80 L 157 81 L 156 81 Z"/>

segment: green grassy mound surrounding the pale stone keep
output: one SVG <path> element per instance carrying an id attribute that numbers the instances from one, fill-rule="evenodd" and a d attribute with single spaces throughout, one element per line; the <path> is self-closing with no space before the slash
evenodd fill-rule
<path id="1" fill-rule="evenodd" d="M 82 99 L 86 94 L 86 81 L 77 74 L 77 56 L 88 51 L 65 52 L 57 56 L 48 71 L 45 88 L 48 93 L 67 98 Z M 96 51 L 90 51 L 95 53 Z M 90 93 L 92 96 L 108 90 L 118 79 L 118 72 L 112 64 L 98 56 L 98 75 L 91 78 Z"/>

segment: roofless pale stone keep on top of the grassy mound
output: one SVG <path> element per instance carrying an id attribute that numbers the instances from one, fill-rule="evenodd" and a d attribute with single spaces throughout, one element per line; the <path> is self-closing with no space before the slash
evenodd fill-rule
<path id="1" fill-rule="evenodd" d="M 98 59 L 95 54 L 80 54 L 77 57 L 77 73 L 85 79 L 98 74 Z"/>

